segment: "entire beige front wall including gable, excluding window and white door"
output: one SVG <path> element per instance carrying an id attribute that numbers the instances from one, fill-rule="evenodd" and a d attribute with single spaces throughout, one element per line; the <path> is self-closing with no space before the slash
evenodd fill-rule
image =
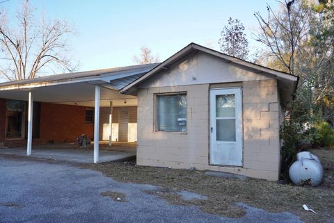
<path id="1" fill-rule="evenodd" d="M 209 90 L 241 87 L 243 166 L 209 165 Z M 187 133 L 156 131 L 154 94 L 186 92 Z M 278 180 L 277 81 L 204 53 L 195 53 L 139 85 L 137 164 L 233 172 Z"/>

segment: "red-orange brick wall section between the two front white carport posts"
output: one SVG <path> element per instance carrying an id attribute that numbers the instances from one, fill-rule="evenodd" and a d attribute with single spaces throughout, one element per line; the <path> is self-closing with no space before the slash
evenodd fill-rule
<path id="1" fill-rule="evenodd" d="M 41 103 L 40 140 L 74 142 L 81 134 L 93 138 L 94 124 L 86 123 L 85 115 L 83 106 Z"/>

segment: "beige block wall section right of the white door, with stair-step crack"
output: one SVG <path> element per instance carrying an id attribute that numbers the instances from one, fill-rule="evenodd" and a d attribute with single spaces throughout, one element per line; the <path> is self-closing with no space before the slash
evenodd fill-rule
<path id="1" fill-rule="evenodd" d="M 244 168 L 250 176 L 277 180 L 280 126 L 276 80 L 245 81 L 243 105 Z"/>

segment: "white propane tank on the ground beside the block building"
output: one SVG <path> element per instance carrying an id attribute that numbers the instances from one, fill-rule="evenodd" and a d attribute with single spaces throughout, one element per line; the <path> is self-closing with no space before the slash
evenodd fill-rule
<path id="1" fill-rule="evenodd" d="M 297 158 L 303 157 L 312 157 L 313 154 L 297 154 Z M 317 158 L 317 156 L 315 156 Z M 292 183 L 296 185 L 312 185 L 317 186 L 322 181 L 322 176 L 324 174 L 324 170 L 322 169 L 322 165 L 317 158 L 301 158 L 292 163 L 289 169 L 289 176 Z"/>

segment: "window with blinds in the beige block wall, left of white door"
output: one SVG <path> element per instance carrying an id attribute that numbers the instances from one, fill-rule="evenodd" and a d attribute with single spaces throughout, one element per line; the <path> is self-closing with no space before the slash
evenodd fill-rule
<path id="1" fill-rule="evenodd" d="M 157 96 L 157 130 L 186 132 L 186 94 Z"/>

